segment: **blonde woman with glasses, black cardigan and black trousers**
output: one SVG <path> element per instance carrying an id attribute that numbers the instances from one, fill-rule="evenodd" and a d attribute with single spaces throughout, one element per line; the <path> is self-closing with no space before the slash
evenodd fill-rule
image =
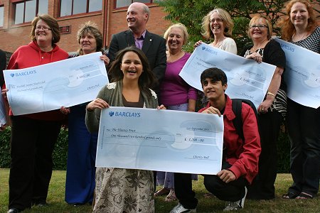
<path id="1" fill-rule="evenodd" d="M 277 177 L 277 140 L 287 106 L 287 85 L 282 77 L 286 58 L 279 43 L 271 39 L 272 25 L 265 16 L 257 15 L 251 18 L 248 35 L 253 45 L 245 48 L 241 55 L 258 63 L 267 62 L 277 67 L 265 99 L 257 108 L 261 138 L 259 173 L 247 188 L 247 198 L 272 200 Z"/>

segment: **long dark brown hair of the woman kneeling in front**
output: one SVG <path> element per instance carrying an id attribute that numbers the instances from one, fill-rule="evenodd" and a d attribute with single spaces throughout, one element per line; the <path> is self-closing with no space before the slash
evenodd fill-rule
<path id="1" fill-rule="evenodd" d="M 122 58 L 125 53 L 127 52 L 134 52 L 139 56 L 139 59 L 142 62 L 142 69 L 144 72 L 139 77 L 138 84 L 141 91 L 146 92 L 146 94 L 151 96 L 150 89 L 154 86 L 154 84 L 157 83 L 156 77 L 154 76 L 154 73 L 151 71 L 148 59 L 146 58 L 146 55 L 144 55 L 144 52 L 140 50 L 139 48 L 136 48 L 135 46 L 129 46 L 127 48 L 124 48 L 123 50 L 119 50 L 117 52 L 117 55 L 115 57 L 115 60 L 112 62 L 112 65 L 109 70 L 109 75 L 112 76 L 111 82 L 117 82 L 119 80 L 123 80 L 123 72 L 120 69 L 120 65 L 122 63 Z"/>

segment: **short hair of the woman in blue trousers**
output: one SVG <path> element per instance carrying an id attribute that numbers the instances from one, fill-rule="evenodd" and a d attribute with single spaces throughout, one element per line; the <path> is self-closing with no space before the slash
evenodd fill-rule
<path id="1" fill-rule="evenodd" d="M 92 21 L 87 21 L 86 23 L 80 26 L 80 29 L 77 33 L 78 43 L 80 44 L 80 40 L 83 35 L 91 34 L 95 37 L 95 42 L 97 43 L 97 48 L 95 52 L 102 52 L 103 40 L 102 40 L 102 33 L 97 28 L 97 24 L 93 23 Z M 78 50 L 79 55 L 83 55 L 83 51 L 80 48 Z"/>

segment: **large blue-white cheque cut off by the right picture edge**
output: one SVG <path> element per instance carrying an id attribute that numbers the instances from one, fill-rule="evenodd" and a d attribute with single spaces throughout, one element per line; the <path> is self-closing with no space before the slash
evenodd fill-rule
<path id="1" fill-rule="evenodd" d="M 275 38 L 286 54 L 287 97 L 306 107 L 320 107 L 320 54 Z"/>

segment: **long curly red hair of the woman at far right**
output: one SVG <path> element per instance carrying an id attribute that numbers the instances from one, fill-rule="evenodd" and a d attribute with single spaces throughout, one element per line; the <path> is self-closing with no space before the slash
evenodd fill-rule
<path id="1" fill-rule="evenodd" d="M 309 13 L 308 25 L 306 26 L 306 31 L 313 32 L 315 28 L 318 26 L 316 23 L 316 15 L 314 13 L 314 9 L 312 8 L 310 1 L 308 0 L 292 0 L 286 6 L 285 13 L 286 16 L 279 21 L 279 26 L 282 27 L 282 39 L 283 40 L 291 40 L 292 35 L 296 33 L 296 28 L 294 27 L 293 23 L 291 22 L 290 13 L 292 6 L 297 2 L 302 3 L 306 6 L 306 10 Z"/>

